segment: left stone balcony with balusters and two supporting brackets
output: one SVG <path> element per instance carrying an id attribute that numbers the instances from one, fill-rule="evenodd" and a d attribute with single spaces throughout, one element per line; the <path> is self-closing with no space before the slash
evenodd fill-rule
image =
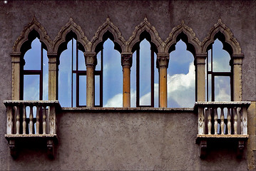
<path id="1" fill-rule="evenodd" d="M 45 139 L 49 157 L 53 157 L 53 145 L 57 142 L 56 100 L 5 100 L 7 111 L 6 139 L 11 155 L 16 157 L 16 143 L 24 139 Z"/>

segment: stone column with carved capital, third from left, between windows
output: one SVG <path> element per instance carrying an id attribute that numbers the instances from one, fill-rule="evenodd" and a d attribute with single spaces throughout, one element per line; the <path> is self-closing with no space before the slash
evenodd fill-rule
<path id="1" fill-rule="evenodd" d="M 95 88 L 94 88 L 94 70 L 97 65 L 95 52 L 85 52 L 86 59 L 86 106 L 94 107 L 95 104 Z"/>

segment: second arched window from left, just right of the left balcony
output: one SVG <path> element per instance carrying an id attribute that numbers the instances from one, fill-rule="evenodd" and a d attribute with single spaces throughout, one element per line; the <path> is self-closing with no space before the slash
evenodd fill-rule
<path id="1" fill-rule="evenodd" d="M 86 63 L 81 43 L 72 31 L 58 48 L 58 100 L 63 107 L 86 106 Z"/>

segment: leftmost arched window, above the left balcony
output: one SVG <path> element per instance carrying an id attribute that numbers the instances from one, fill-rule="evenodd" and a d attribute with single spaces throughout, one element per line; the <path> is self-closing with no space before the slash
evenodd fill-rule
<path id="1" fill-rule="evenodd" d="M 35 30 L 21 46 L 21 95 L 22 100 L 48 100 L 48 57 L 46 46 Z M 22 91 L 23 90 L 23 91 Z"/>

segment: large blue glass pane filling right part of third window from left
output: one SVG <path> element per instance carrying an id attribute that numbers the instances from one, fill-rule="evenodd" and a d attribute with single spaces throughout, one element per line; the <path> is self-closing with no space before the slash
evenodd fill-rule
<path id="1" fill-rule="evenodd" d="M 109 38 L 103 44 L 103 106 L 122 107 L 123 105 L 123 68 L 121 54 L 114 50 Z"/>

